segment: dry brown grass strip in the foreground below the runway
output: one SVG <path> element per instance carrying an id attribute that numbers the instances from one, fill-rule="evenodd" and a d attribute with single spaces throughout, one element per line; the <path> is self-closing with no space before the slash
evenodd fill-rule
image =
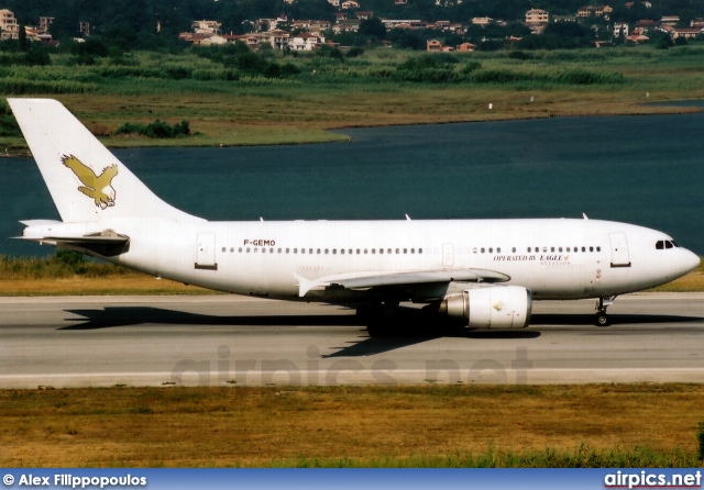
<path id="1" fill-rule="evenodd" d="M 698 385 L 0 391 L 0 466 L 364 466 L 581 445 L 695 454 L 703 405 Z"/>

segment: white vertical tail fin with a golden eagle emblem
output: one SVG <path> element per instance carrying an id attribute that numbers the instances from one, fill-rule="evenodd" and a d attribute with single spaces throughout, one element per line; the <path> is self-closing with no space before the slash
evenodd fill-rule
<path id="1" fill-rule="evenodd" d="M 8 102 L 64 222 L 194 218 L 156 197 L 61 102 Z"/>

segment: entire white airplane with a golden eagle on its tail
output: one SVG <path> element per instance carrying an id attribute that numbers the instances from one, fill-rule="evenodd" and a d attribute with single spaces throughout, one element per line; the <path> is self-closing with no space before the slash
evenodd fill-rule
<path id="1" fill-rule="evenodd" d="M 59 102 L 8 99 L 63 221 L 22 238 L 238 294 L 428 303 L 465 326 L 528 326 L 532 300 L 596 298 L 671 281 L 700 258 L 664 233 L 572 219 L 212 222 L 162 201 Z"/>

